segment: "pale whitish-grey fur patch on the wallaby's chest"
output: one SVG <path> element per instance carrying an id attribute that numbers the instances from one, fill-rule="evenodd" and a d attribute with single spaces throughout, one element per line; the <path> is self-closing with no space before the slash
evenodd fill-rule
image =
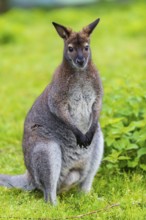
<path id="1" fill-rule="evenodd" d="M 83 79 L 69 90 L 68 108 L 70 116 L 75 125 L 86 133 L 91 125 L 92 105 L 95 102 L 96 94 L 91 82 Z"/>

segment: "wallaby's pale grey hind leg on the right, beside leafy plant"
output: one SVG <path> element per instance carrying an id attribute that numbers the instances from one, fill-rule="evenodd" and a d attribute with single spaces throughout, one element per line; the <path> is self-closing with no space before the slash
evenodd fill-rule
<path id="1" fill-rule="evenodd" d="M 91 190 L 94 176 L 100 166 L 100 163 L 103 157 L 104 138 L 103 138 L 102 131 L 100 129 L 100 125 L 98 127 L 97 133 L 93 139 L 92 144 L 94 144 L 95 146 L 94 146 L 94 151 L 92 154 L 90 169 L 86 175 L 86 178 L 83 180 L 83 182 L 80 185 L 81 190 L 84 192 L 89 192 Z"/>

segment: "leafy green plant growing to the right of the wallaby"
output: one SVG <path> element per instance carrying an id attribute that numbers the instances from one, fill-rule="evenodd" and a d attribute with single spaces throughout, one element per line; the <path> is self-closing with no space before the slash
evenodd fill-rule
<path id="1" fill-rule="evenodd" d="M 112 100 L 113 111 L 109 114 L 108 107 L 104 109 L 104 161 L 107 168 L 112 170 L 141 168 L 146 171 L 145 91 L 137 94 L 137 89 L 133 88 L 131 93 L 127 93 L 126 87 L 121 91 L 119 98 Z M 122 93 L 125 98 L 122 98 Z M 111 96 L 115 97 L 114 94 Z M 107 99 L 105 102 L 108 103 Z"/>

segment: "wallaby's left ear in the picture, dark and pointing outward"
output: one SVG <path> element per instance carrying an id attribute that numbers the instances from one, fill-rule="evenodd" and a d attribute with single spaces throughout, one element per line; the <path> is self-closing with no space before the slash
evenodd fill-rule
<path id="1" fill-rule="evenodd" d="M 67 39 L 70 36 L 71 29 L 66 28 L 60 24 L 55 23 L 55 22 L 52 22 L 52 24 L 54 25 L 54 27 L 60 37 L 62 37 L 63 39 Z"/>

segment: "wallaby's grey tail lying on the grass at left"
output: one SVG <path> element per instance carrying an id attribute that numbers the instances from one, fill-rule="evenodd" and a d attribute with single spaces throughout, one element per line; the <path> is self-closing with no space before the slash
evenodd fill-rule
<path id="1" fill-rule="evenodd" d="M 18 176 L 0 174 L 0 186 L 6 186 L 8 188 L 14 187 L 24 190 L 33 190 L 36 188 L 28 172 Z"/>

